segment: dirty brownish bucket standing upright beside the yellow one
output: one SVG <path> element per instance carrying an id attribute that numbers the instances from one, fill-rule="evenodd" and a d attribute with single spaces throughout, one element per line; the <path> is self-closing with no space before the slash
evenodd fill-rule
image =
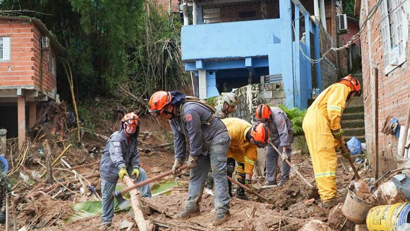
<path id="1" fill-rule="evenodd" d="M 356 197 L 353 191 L 347 189 L 346 200 L 344 200 L 342 213 L 350 221 L 362 224 L 366 221 L 366 215 L 375 205 Z"/>

